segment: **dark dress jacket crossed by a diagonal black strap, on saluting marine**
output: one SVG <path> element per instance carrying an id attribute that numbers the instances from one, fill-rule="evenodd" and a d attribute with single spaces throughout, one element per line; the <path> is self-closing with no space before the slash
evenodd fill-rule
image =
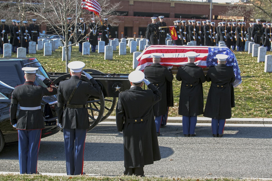
<path id="1" fill-rule="evenodd" d="M 58 123 L 62 125 L 62 128 L 88 129 L 90 126 L 87 108 L 67 108 L 65 106 L 79 81 L 78 76 L 71 76 L 70 79 L 60 82 L 58 86 Z M 98 83 L 93 78 L 90 81 L 91 83 L 82 81 L 70 100 L 70 104 L 84 105 L 87 104 L 90 95 L 100 96 L 102 94 Z"/>

